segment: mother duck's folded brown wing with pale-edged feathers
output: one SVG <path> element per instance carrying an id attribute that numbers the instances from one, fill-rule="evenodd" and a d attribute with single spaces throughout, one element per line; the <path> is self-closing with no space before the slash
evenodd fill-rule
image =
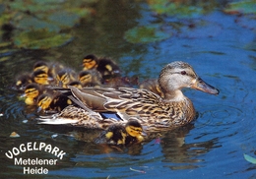
<path id="1" fill-rule="evenodd" d="M 160 96 L 147 89 L 69 87 L 77 100 L 96 112 L 138 115 L 158 105 Z"/>

